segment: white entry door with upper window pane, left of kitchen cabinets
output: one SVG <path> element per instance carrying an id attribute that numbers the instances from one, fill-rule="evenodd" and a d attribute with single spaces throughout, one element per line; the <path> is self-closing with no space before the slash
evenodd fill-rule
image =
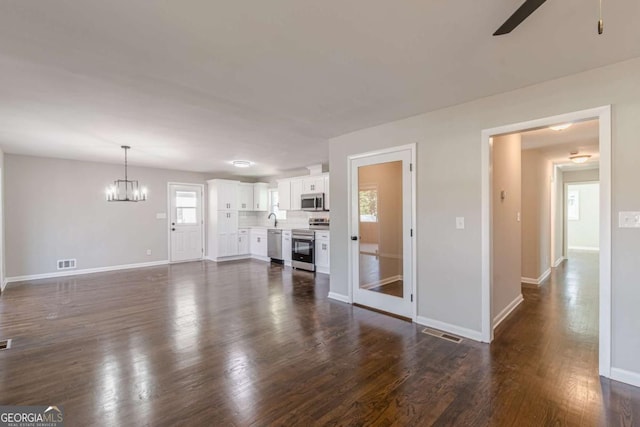
<path id="1" fill-rule="evenodd" d="M 171 262 L 203 257 L 202 192 L 200 185 L 169 184 Z"/>

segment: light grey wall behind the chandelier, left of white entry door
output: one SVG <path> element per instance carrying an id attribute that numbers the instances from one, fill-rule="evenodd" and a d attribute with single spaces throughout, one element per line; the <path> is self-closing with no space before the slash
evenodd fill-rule
<path id="1" fill-rule="evenodd" d="M 105 188 L 123 175 L 122 165 L 6 154 L 6 276 L 57 272 L 65 258 L 78 269 L 167 260 L 167 220 L 156 219 L 167 212 L 167 182 L 205 176 L 130 167 L 149 200 L 106 202 Z"/>

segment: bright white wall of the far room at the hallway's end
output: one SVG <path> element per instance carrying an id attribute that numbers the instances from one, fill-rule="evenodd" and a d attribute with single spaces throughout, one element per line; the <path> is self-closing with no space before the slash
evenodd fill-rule
<path id="1" fill-rule="evenodd" d="M 597 251 L 600 247 L 600 184 L 569 184 L 567 189 L 577 191 L 580 200 L 579 219 L 567 221 L 569 250 Z"/>

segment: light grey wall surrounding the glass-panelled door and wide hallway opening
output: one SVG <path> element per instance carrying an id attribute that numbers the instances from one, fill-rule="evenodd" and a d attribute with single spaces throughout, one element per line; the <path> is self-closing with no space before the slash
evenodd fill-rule
<path id="1" fill-rule="evenodd" d="M 480 334 L 482 130 L 612 104 L 613 218 L 640 210 L 639 75 L 636 58 L 333 138 L 331 292 L 349 294 L 347 157 L 416 142 L 418 315 Z M 612 224 L 612 365 L 640 382 L 635 231 Z"/>

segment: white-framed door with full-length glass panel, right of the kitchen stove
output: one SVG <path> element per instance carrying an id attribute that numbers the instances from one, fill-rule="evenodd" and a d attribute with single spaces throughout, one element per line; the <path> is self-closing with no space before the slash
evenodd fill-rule
<path id="1" fill-rule="evenodd" d="M 411 150 L 351 160 L 353 301 L 413 317 Z"/>

